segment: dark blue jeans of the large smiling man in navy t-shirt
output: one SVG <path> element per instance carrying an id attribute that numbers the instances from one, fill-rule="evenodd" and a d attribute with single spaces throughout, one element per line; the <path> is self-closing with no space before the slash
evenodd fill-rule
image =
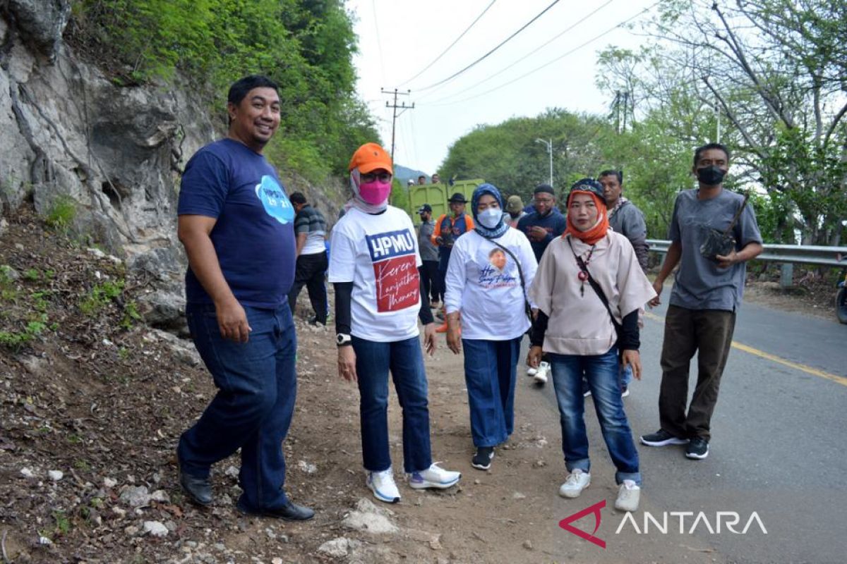
<path id="1" fill-rule="evenodd" d="M 214 384 L 212 402 L 180 437 L 177 456 L 186 474 L 208 477 L 210 467 L 241 448 L 241 504 L 247 510 L 287 505 L 282 441 L 288 434 L 297 383 L 291 308 L 244 308 L 247 342 L 220 335 L 211 304 L 188 304 L 185 315 Z"/>

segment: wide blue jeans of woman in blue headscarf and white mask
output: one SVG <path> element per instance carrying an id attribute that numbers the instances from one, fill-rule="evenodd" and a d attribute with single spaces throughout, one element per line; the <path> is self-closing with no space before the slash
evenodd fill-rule
<path id="1" fill-rule="evenodd" d="M 508 341 L 462 339 L 473 446 L 497 446 L 512 435 L 521 338 Z"/>

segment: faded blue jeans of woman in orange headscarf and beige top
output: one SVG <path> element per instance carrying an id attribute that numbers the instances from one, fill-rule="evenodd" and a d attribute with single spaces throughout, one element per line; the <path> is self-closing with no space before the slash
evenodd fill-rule
<path id="1" fill-rule="evenodd" d="M 562 452 L 568 472 L 579 468 L 589 472 L 588 434 L 585 431 L 585 402 L 582 395 L 583 376 L 588 380 L 591 397 L 603 439 L 615 464 L 615 480 L 621 484 L 625 479 L 641 485 L 638 451 L 635 450 L 632 430 L 629 429 L 617 364 L 617 347 L 605 354 L 581 356 L 577 354 L 550 353 L 553 370 L 553 386 L 562 424 Z"/>

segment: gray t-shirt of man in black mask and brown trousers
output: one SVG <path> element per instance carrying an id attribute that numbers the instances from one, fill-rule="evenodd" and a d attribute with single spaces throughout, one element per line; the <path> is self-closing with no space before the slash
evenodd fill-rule
<path id="1" fill-rule="evenodd" d="M 729 227 L 744 196 L 722 189 L 711 200 L 697 200 L 697 190 L 685 190 L 673 205 L 671 227 L 667 238 L 682 244 L 679 271 L 673 282 L 670 303 L 687 309 L 723 309 L 734 311 L 741 305 L 744 293 L 744 262 L 718 268 L 717 263 L 700 255 L 700 245 L 706 240 L 709 227 L 720 231 Z M 748 203 L 733 227 L 735 250 L 749 243 L 761 244 L 753 206 Z"/>

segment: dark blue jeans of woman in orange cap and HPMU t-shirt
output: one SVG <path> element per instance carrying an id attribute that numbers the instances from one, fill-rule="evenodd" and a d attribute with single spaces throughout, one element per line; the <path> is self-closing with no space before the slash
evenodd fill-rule
<path id="1" fill-rule="evenodd" d="M 407 474 L 432 464 L 429 446 L 429 405 L 424 354 L 418 337 L 373 342 L 353 336 L 362 421 L 362 459 L 366 470 L 391 466 L 388 447 L 388 373 L 394 380 L 403 412 L 403 468 Z"/>

